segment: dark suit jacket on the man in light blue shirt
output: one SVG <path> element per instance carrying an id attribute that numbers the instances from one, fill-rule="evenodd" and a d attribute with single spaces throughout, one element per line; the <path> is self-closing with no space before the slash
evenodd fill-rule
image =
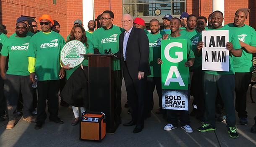
<path id="1" fill-rule="evenodd" d="M 124 32 L 120 34 L 120 50 L 116 55 L 121 62 L 123 75 L 123 40 Z M 150 75 L 149 68 L 149 39 L 143 29 L 133 27 L 126 46 L 126 64 L 132 79 L 138 79 L 138 71 L 143 71 L 144 76 Z"/>

